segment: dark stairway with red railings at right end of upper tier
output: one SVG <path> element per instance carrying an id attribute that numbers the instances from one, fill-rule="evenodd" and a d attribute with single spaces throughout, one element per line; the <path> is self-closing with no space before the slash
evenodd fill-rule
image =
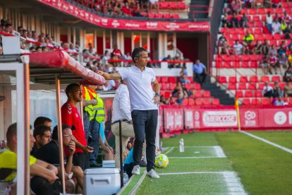
<path id="1" fill-rule="evenodd" d="M 209 7 L 209 0 L 191 0 L 190 12 L 188 13 L 188 18 L 193 19 L 193 20 L 196 20 L 197 18 L 207 18 L 208 7 Z M 205 12 L 206 9 L 207 9 L 207 12 Z M 195 12 L 193 13 L 193 11 Z"/>

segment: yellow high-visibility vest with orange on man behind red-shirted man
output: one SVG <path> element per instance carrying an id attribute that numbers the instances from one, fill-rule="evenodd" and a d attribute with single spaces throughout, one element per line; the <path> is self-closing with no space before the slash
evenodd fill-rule
<path id="1" fill-rule="evenodd" d="M 92 93 L 90 90 L 85 88 L 85 100 L 92 100 L 90 95 L 93 96 L 95 100 L 97 100 L 97 105 L 87 105 L 85 106 L 84 110 L 90 115 L 90 121 L 95 118 L 95 120 L 99 123 L 104 121 L 104 101 L 102 98 L 99 98 L 97 93 Z"/>

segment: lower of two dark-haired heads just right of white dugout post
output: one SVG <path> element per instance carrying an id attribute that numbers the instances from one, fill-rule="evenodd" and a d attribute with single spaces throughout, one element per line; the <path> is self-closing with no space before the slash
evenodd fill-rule
<path id="1" fill-rule="evenodd" d="M 51 141 L 51 128 L 44 124 L 39 124 L 33 130 L 33 136 L 35 138 L 35 145 L 33 146 L 30 154 L 35 156 L 39 148 L 42 148 L 42 146 Z"/>

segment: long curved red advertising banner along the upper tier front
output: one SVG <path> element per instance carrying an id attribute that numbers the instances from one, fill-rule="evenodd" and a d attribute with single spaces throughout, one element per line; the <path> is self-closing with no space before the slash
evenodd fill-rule
<path id="1" fill-rule="evenodd" d="M 169 21 L 149 21 L 145 20 L 123 20 L 118 18 L 104 18 L 89 11 L 85 11 L 78 6 L 64 0 L 37 0 L 71 14 L 77 18 L 98 25 L 104 28 L 116 28 L 126 30 L 163 30 L 163 31 L 209 31 L 209 22 L 169 22 Z"/>

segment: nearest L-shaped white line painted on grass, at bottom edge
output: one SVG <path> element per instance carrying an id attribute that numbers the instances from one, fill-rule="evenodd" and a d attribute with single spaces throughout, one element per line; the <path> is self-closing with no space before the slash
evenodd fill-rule
<path id="1" fill-rule="evenodd" d="M 236 172 L 223 171 L 223 172 L 167 172 L 159 175 L 186 175 L 186 174 L 220 174 L 223 175 L 226 182 L 227 190 L 231 195 L 245 195 L 247 194 L 243 189 L 243 185 L 238 179 Z"/>

